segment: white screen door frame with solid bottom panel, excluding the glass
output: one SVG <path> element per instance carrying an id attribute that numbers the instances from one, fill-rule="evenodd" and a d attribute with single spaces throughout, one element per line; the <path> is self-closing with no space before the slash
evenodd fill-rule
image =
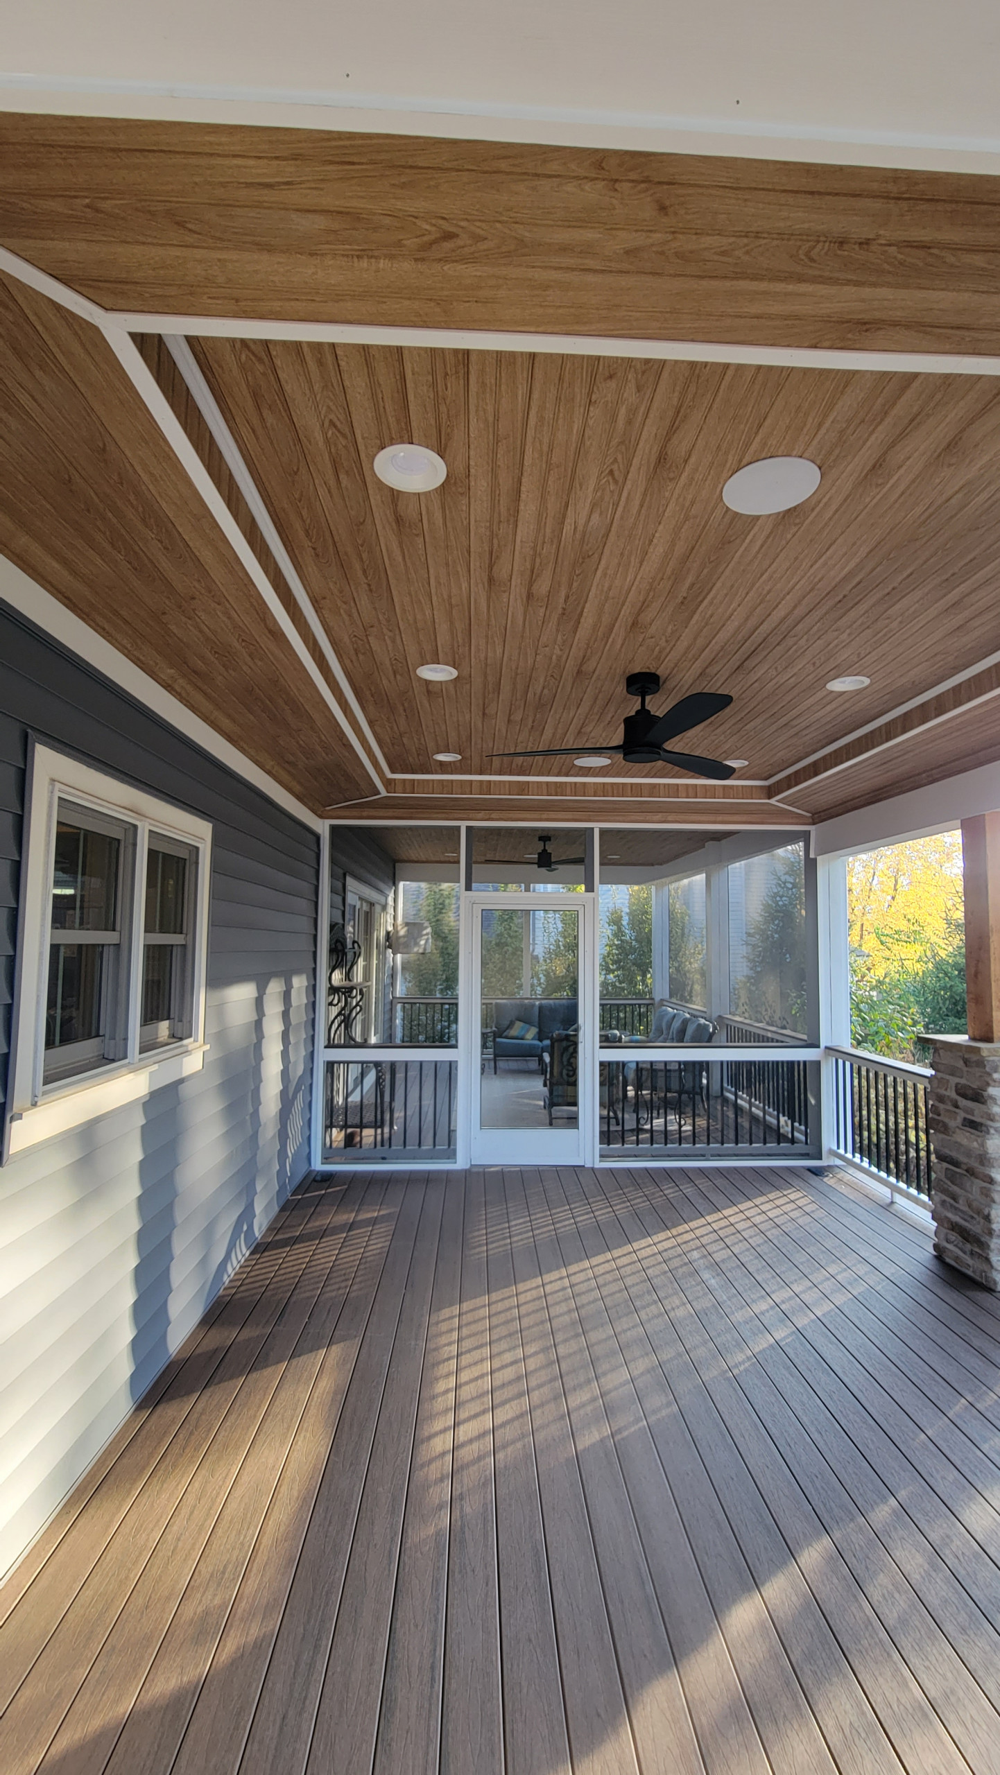
<path id="1" fill-rule="evenodd" d="M 472 1164 L 593 1164 L 597 1145 L 597 1022 L 595 992 L 595 900 L 593 893 L 464 893 L 464 967 L 469 982 L 467 1015 L 460 1019 L 460 1072 L 467 1088 L 460 1093 L 465 1109 L 465 1138 Z M 579 912 L 577 1017 L 581 1024 L 577 1054 L 577 1125 L 540 1129 L 481 1129 L 481 912 Z"/>

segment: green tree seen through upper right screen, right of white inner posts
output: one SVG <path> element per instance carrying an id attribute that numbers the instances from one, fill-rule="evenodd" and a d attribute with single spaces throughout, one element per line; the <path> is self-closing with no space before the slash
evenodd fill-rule
<path id="1" fill-rule="evenodd" d="M 776 852 L 774 872 L 746 935 L 746 973 L 734 982 L 737 1017 L 774 1030 L 805 1030 L 806 934 L 803 856 Z"/>

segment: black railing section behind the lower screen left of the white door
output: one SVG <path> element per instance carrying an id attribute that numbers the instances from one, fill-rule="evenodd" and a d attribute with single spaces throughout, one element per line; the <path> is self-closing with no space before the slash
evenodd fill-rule
<path id="1" fill-rule="evenodd" d="M 453 1060 L 327 1060 L 323 1159 L 453 1159 Z"/>

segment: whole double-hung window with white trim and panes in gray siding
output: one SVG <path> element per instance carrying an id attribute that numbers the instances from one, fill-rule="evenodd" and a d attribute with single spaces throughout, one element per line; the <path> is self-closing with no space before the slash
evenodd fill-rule
<path id="1" fill-rule="evenodd" d="M 123 1100 L 123 1076 L 135 1095 L 190 1070 L 204 1045 L 210 843 L 206 820 L 34 749 L 11 1102 L 36 1138 L 53 1124 L 36 1111 L 55 1099 L 66 1127 L 67 1093 L 78 1122 Z M 7 1147 L 27 1143 L 21 1129 Z"/>

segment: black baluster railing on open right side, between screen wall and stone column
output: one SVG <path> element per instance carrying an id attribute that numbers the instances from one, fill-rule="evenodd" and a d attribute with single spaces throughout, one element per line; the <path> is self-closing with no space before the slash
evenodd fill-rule
<path id="1" fill-rule="evenodd" d="M 833 1147 L 918 1196 L 931 1195 L 927 1067 L 883 1060 L 863 1049 L 831 1049 Z"/>

